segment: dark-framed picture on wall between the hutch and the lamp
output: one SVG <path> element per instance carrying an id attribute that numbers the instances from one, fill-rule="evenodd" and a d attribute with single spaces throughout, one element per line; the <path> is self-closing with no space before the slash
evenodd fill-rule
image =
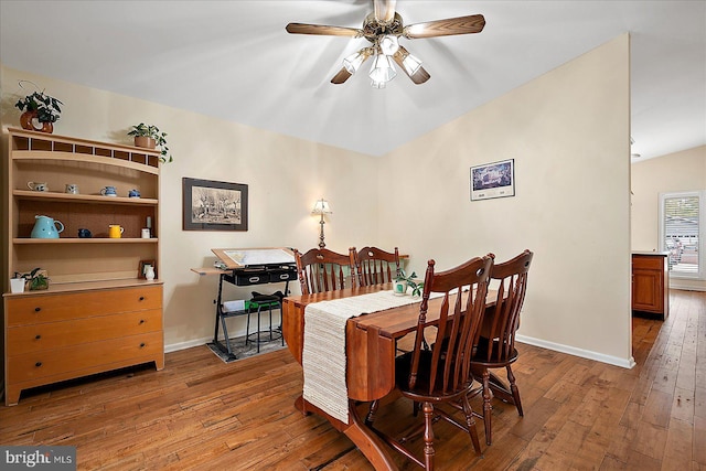
<path id="1" fill-rule="evenodd" d="M 247 231 L 247 185 L 182 179 L 184 231 Z"/>

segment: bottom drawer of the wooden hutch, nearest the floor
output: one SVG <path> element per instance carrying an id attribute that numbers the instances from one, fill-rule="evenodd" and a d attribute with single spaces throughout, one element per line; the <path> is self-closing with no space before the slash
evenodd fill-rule
<path id="1" fill-rule="evenodd" d="M 26 353 L 9 357 L 6 374 L 10 384 L 21 383 L 98 365 L 119 363 L 129 358 L 161 354 L 163 344 L 162 332 L 150 332 L 122 339 Z"/>

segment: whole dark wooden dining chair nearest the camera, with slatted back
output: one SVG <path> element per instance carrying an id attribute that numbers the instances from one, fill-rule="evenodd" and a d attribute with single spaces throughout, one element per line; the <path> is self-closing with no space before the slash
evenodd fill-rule
<path id="1" fill-rule="evenodd" d="M 435 261 L 429 260 L 414 350 L 395 358 L 396 387 L 402 396 L 414 404 L 421 404 L 424 421 L 413 428 L 411 435 L 394 438 L 374 426 L 378 402 L 372 403 L 365 419 L 385 442 L 426 470 L 434 469 L 432 424 L 439 418 L 469 433 L 475 453 L 482 454 L 474 413 L 469 402 L 469 397 L 480 390 L 473 387 L 470 360 L 480 333 L 492 264 L 493 259 L 489 256 L 475 257 L 450 270 L 435 272 Z M 435 298 L 429 301 L 432 295 Z M 427 318 L 432 321 L 427 322 Z M 425 349 L 424 339 L 429 330 L 448 339 L 448 342 L 437 342 L 430 349 Z M 445 346 L 446 350 L 442 350 Z M 460 404 L 466 421 L 461 422 L 443 410 L 440 406 L 445 403 L 449 406 Z M 405 445 L 419 433 L 424 437 L 422 459 Z"/>

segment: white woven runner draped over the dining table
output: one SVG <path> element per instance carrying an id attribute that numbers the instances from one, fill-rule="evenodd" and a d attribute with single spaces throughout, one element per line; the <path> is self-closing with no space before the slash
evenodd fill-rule
<path id="1" fill-rule="evenodd" d="M 362 313 L 384 311 L 421 302 L 421 298 L 395 296 L 393 291 L 341 298 L 308 304 L 304 309 L 303 398 L 344 424 L 349 424 L 345 384 L 345 323 Z"/>

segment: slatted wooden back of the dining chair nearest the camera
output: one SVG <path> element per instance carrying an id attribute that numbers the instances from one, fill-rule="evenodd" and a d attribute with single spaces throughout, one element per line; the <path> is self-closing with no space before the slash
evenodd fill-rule
<path id="1" fill-rule="evenodd" d="M 490 256 L 475 257 L 447 271 L 435 272 L 435 261 L 429 260 L 425 276 L 419 319 L 417 322 L 415 346 L 411 353 L 411 367 L 408 389 L 428 396 L 449 396 L 469 387 L 473 382 L 471 374 L 471 354 L 480 333 L 480 322 L 485 309 L 488 280 L 493 259 Z M 440 293 L 437 323 L 437 339 L 447 342 L 435 342 L 431 357 L 422 356 L 429 297 Z M 424 372 L 420 368 L 429 368 Z M 425 378 L 426 385 L 417 385 L 417 377 Z M 420 390 L 422 387 L 426 390 Z"/>

